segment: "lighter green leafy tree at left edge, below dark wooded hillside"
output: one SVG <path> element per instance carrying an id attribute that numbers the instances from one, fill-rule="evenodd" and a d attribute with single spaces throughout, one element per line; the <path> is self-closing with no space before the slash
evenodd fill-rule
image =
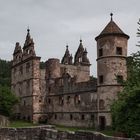
<path id="1" fill-rule="evenodd" d="M 18 98 L 11 92 L 10 88 L 0 85 L 0 114 L 12 115 L 12 109 L 16 103 L 18 103 Z"/>

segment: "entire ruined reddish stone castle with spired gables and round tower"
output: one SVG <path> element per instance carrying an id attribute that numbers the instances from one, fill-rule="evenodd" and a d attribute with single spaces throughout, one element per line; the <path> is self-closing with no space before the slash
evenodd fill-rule
<path id="1" fill-rule="evenodd" d="M 68 46 L 60 62 L 40 57 L 28 30 L 21 49 L 13 54 L 12 89 L 20 97 L 17 118 L 66 126 L 96 127 L 111 125 L 110 104 L 123 89 L 119 80 L 127 78 L 126 35 L 112 20 L 95 38 L 97 41 L 97 79 L 90 77 L 90 61 L 80 40 L 74 55 Z"/>

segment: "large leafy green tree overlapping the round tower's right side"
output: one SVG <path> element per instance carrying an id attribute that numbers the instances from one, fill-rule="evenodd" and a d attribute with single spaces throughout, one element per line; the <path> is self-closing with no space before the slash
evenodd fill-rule
<path id="1" fill-rule="evenodd" d="M 137 34 L 140 37 L 140 26 Z M 127 58 L 127 67 L 128 78 L 123 81 L 124 89 L 111 106 L 112 126 L 133 137 L 140 133 L 140 51 Z"/>

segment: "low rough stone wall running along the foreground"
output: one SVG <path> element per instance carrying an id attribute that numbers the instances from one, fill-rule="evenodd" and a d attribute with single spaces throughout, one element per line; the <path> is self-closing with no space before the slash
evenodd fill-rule
<path id="1" fill-rule="evenodd" d="M 31 128 L 0 128 L 0 140 L 134 140 L 93 132 L 65 132 L 50 126 Z"/>

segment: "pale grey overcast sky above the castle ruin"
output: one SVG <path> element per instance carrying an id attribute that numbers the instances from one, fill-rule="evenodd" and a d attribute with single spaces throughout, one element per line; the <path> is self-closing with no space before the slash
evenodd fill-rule
<path id="1" fill-rule="evenodd" d="M 15 43 L 23 46 L 29 26 L 42 61 L 61 59 L 66 44 L 73 54 L 80 37 L 96 75 L 95 37 L 113 20 L 130 35 L 128 54 L 136 47 L 140 0 L 0 0 L 0 58 L 11 60 Z"/>

